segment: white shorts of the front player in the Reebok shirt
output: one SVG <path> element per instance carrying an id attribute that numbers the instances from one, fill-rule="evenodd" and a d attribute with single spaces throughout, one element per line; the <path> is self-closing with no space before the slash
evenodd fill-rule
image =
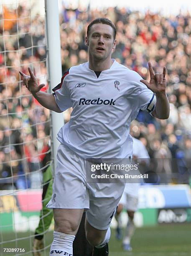
<path id="1" fill-rule="evenodd" d="M 124 191 L 123 183 L 87 183 L 86 160 L 60 144 L 48 208 L 89 209 L 87 221 L 106 230 Z"/>

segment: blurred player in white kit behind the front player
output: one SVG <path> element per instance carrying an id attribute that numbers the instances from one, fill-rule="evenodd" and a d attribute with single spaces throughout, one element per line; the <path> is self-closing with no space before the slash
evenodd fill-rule
<path id="1" fill-rule="evenodd" d="M 138 159 L 139 166 L 143 166 L 143 168 L 149 164 L 150 156 L 144 144 L 133 138 L 133 159 Z M 139 183 L 126 183 L 125 190 L 117 207 L 117 212 L 115 218 L 117 220 L 117 229 L 116 229 L 116 238 L 122 238 L 122 230 L 121 230 L 121 220 L 120 213 L 123 208 L 127 210 L 128 221 L 127 226 L 125 228 L 125 236 L 123 238 L 123 249 L 125 251 L 132 251 L 132 247 L 130 246 L 131 238 L 135 231 L 135 225 L 133 222 L 134 214 L 138 210 L 138 189 Z"/>

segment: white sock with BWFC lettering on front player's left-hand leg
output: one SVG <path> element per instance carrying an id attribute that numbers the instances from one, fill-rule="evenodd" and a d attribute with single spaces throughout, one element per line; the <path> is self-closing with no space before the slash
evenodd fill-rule
<path id="1" fill-rule="evenodd" d="M 75 236 L 61 232 L 53 232 L 53 242 L 51 244 L 50 256 L 67 255 L 73 256 L 73 241 Z"/>

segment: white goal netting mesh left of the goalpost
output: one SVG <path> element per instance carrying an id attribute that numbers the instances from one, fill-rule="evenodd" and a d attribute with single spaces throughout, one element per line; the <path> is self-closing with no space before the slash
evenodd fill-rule
<path id="1" fill-rule="evenodd" d="M 48 89 L 44 20 L 44 0 L 0 1 L 1 255 L 31 255 L 39 221 L 50 112 L 22 85 L 19 70 L 28 73 L 31 67 Z"/>

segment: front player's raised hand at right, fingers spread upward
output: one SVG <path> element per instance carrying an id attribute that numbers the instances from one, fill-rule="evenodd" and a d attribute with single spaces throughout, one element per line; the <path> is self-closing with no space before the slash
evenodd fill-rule
<path id="1" fill-rule="evenodd" d="M 153 67 L 151 63 L 148 63 L 149 72 L 150 72 L 150 82 L 147 82 L 144 79 L 141 79 L 140 82 L 145 84 L 148 89 L 156 94 L 164 94 L 166 93 L 166 67 L 163 68 L 163 73 L 156 73 L 153 72 Z"/>

